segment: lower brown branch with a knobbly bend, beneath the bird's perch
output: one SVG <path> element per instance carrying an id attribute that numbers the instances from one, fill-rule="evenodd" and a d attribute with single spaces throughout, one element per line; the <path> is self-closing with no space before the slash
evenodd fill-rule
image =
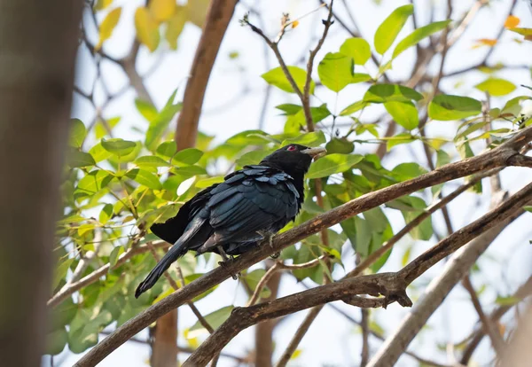
<path id="1" fill-rule="evenodd" d="M 515 212 L 523 212 L 521 207 L 530 201 L 531 198 L 532 183 L 529 183 L 525 188 L 512 195 L 510 199 L 505 200 L 488 214 L 443 239 L 436 246 L 419 255 L 418 258 L 396 273 L 380 273 L 348 278 L 340 282 L 317 286 L 301 293 L 294 293 L 275 301 L 264 302 L 248 308 L 234 308 L 231 316 L 184 362 L 184 367 L 206 365 L 232 338 L 253 324 L 332 301 L 341 300 L 350 305 L 363 308 L 386 308 L 388 304 L 397 301 L 403 307 L 410 307 L 412 303 L 406 294 L 407 285 L 410 285 L 416 277 L 423 274 L 434 263 L 458 250 L 458 248 L 464 246 L 473 238 L 478 237 L 496 225 L 501 227 L 501 223 L 506 225 L 508 218 L 514 215 Z M 430 266 L 427 266 L 427 263 Z M 413 277 L 414 275 L 416 277 Z M 454 275 L 456 276 L 456 273 Z M 372 296 L 381 294 L 384 297 L 378 299 L 363 298 L 356 296 L 357 294 L 369 294 Z"/>

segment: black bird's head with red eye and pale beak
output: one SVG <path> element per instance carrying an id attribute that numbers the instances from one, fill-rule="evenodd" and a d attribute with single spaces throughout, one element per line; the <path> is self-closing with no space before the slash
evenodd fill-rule
<path id="1" fill-rule="evenodd" d="M 304 176 L 309 170 L 310 163 L 325 154 L 325 148 L 317 146 L 309 148 L 300 144 L 283 146 L 261 161 L 261 165 L 282 169 L 288 175 Z"/>

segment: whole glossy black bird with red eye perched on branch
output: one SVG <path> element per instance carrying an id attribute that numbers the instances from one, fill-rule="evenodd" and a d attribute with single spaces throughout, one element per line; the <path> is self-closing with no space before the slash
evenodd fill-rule
<path id="1" fill-rule="evenodd" d="M 299 213 L 304 175 L 312 159 L 323 154 L 321 147 L 286 145 L 200 191 L 167 222 L 153 224 L 153 233 L 174 246 L 138 285 L 135 297 L 189 250 L 215 252 L 227 260 L 227 254 L 243 254 L 271 238 Z"/>

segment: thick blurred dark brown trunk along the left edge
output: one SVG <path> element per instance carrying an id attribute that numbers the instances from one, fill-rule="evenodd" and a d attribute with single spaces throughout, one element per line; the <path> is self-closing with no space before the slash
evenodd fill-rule
<path id="1" fill-rule="evenodd" d="M 0 0 L 0 361 L 38 366 L 82 2 Z"/>

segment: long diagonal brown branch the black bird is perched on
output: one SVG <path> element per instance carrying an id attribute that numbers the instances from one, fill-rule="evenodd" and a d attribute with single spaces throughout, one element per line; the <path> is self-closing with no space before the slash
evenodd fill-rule
<path id="1" fill-rule="evenodd" d="M 147 325 L 153 323 L 159 316 L 183 305 L 187 300 L 191 300 L 214 285 L 220 284 L 223 280 L 231 277 L 232 274 L 239 273 L 240 270 L 250 267 L 254 263 L 265 259 L 270 254 L 281 251 L 283 248 L 293 245 L 320 230 L 340 223 L 353 215 L 357 215 L 373 207 L 378 207 L 403 195 L 408 195 L 426 187 L 459 177 L 470 176 L 490 168 L 505 167 L 507 160 L 517 154 L 520 147 L 527 144 L 530 140 L 532 140 L 532 127 L 521 130 L 515 137 L 512 137 L 505 144 L 501 144 L 490 152 L 485 152 L 467 160 L 450 163 L 409 181 L 396 183 L 379 191 L 367 193 L 360 198 L 348 201 L 340 207 L 335 207 L 325 214 L 317 215 L 312 220 L 275 236 L 272 246 L 257 246 L 253 251 L 239 256 L 235 261 L 228 263 L 224 267 L 216 268 L 208 272 L 205 276 L 194 280 L 176 293 L 169 295 L 164 300 L 145 309 L 145 311 L 121 325 L 120 328 L 105 340 L 102 340 L 96 347 L 93 347 L 89 353 L 83 355 L 82 359 L 76 365 L 90 366 L 99 363 L 106 355 L 109 355 L 114 349 L 120 347 L 122 343 L 129 340 L 130 337 L 140 332 Z"/>

